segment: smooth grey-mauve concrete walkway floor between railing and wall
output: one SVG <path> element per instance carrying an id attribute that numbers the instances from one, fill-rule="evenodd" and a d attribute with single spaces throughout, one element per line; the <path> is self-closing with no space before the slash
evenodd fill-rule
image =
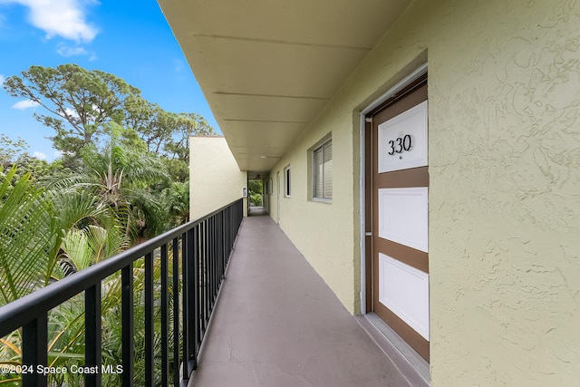
<path id="1" fill-rule="evenodd" d="M 244 218 L 189 386 L 410 385 L 275 222 Z"/>

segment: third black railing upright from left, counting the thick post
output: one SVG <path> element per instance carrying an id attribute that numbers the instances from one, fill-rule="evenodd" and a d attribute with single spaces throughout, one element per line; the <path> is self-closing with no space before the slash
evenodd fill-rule
<path id="1" fill-rule="evenodd" d="M 133 385 L 133 360 L 134 360 L 134 338 L 133 338 L 133 264 L 129 264 L 121 269 L 121 343 L 122 343 L 122 385 L 131 387 Z"/>

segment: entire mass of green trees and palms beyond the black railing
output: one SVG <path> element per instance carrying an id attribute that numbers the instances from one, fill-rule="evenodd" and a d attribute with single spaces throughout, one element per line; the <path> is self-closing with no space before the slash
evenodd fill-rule
<path id="1" fill-rule="evenodd" d="M 189 136 L 214 133 L 203 117 L 164 111 L 121 78 L 76 64 L 31 66 L 6 79 L 4 88 L 43 107 L 34 116 L 52 131 L 63 157 L 38 160 L 24 140 L 0 134 L 0 305 L 189 220 Z M 133 268 L 136 315 L 144 314 L 144 262 Z M 102 281 L 103 364 L 121 362 L 120 288 L 119 273 Z M 48 315 L 55 366 L 84 362 L 82 297 Z M 0 339 L 3 362 L 22 364 L 21 343 L 20 330 Z M 142 346 L 144 339 L 136 340 L 135 353 Z M 142 383 L 144 362 L 136 361 L 134 372 Z M 118 384 L 117 375 L 102 376 L 103 384 Z M 81 379 L 48 375 L 51 385 L 80 385 Z M 20 375 L 0 374 L 0 384 L 19 382 Z"/>

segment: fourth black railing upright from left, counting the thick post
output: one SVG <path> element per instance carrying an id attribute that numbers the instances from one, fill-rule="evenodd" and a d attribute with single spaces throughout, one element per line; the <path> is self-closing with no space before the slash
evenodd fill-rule
<path id="1" fill-rule="evenodd" d="M 153 329 L 153 254 L 144 257 L 145 266 L 145 385 L 153 385 L 155 332 Z"/>

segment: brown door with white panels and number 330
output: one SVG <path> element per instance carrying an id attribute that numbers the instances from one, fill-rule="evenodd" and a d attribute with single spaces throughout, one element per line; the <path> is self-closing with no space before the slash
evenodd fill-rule
<path id="1" fill-rule="evenodd" d="M 429 362 L 427 75 L 370 117 L 367 307 Z"/>

